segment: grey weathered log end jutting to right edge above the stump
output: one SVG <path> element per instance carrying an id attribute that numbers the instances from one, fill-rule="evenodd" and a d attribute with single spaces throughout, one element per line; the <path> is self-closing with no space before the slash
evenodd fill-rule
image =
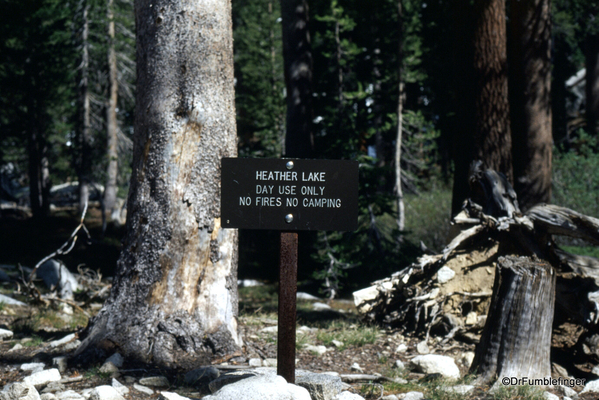
<path id="1" fill-rule="evenodd" d="M 527 211 L 535 225 L 551 235 L 570 236 L 599 245 L 599 219 L 580 214 L 566 207 L 541 204 Z"/>

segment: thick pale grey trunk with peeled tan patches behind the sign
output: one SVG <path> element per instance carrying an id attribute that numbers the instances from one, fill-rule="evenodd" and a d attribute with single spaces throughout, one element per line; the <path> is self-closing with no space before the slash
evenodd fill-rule
<path id="1" fill-rule="evenodd" d="M 237 231 L 220 226 L 220 159 L 236 155 L 231 4 L 138 0 L 135 15 L 127 235 L 77 354 L 187 369 L 241 345 Z"/>

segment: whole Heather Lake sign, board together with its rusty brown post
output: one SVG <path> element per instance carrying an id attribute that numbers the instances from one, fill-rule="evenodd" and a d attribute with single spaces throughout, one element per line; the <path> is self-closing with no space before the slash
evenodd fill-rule
<path id="1" fill-rule="evenodd" d="M 353 231 L 358 163 L 223 158 L 221 226 L 281 233 L 277 374 L 295 382 L 298 230 Z"/>

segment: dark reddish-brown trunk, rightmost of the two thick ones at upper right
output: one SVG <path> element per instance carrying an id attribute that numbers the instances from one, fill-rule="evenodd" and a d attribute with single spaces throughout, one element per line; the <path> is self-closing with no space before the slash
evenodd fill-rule
<path id="1" fill-rule="evenodd" d="M 512 1 L 510 101 L 514 189 L 522 211 L 551 198 L 549 0 Z"/>

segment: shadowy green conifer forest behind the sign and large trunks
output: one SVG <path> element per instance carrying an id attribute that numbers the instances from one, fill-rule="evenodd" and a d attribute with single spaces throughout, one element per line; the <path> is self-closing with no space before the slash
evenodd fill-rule
<path id="1" fill-rule="evenodd" d="M 232 6 L 239 156 L 285 156 L 280 3 L 233 0 Z M 508 55 L 510 6 L 508 1 L 501 16 Z M 359 161 L 360 217 L 355 232 L 301 237 L 304 284 L 328 296 L 348 293 L 399 270 L 425 247 L 439 251 L 447 243 L 456 165 L 465 154 L 460 146 L 471 140 L 469 127 L 477 118 L 464 112 L 476 84 L 473 77 L 464 79 L 474 9 L 469 1 L 310 3 L 312 156 Z M 589 72 L 599 59 L 599 6 L 556 0 L 550 10 L 550 201 L 599 216 L 599 81 Z M 65 182 L 80 183 L 75 201 L 81 206 L 89 197 L 105 210 L 117 209 L 118 198 L 127 196 L 134 25 L 129 0 L 0 2 L 1 194 L 5 204 L 30 207 L 32 220 L 41 221 L 36 223 L 54 210 L 51 188 Z M 398 126 L 401 192 L 395 176 Z M 94 240 L 101 245 L 111 238 Z M 277 242 L 277 232 L 241 231 L 240 277 L 274 280 Z M 584 243 L 561 244 L 599 255 Z"/>

